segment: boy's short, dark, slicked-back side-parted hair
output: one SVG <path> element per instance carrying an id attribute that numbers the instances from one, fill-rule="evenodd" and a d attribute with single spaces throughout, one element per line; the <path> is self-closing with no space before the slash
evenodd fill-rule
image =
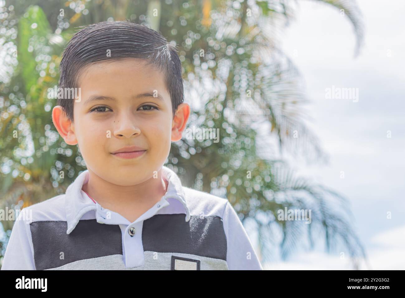
<path id="1" fill-rule="evenodd" d="M 177 107 L 184 102 L 181 62 L 175 45 L 155 30 L 129 21 L 104 21 L 81 27 L 84 28 L 75 33 L 63 51 L 60 88 L 79 88 L 80 71 L 93 62 L 144 59 L 164 72 L 174 117 Z M 107 49 L 111 50 L 111 57 L 107 57 Z M 58 105 L 72 122 L 74 101 L 58 98 Z"/>

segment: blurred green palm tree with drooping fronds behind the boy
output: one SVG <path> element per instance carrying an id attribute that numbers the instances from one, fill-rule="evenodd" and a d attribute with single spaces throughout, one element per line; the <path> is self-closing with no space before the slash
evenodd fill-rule
<path id="1" fill-rule="evenodd" d="M 354 25 L 357 52 L 362 41 L 362 22 L 355 2 L 321 2 L 344 10 Z M 3 205 L 23 201 L 26 206 L 48 199 L 53 193 L 63 193 L 77 172 L 85 169 L 78 148 L 68 148 L 58 138 L 50 117 L 54 102 L 46 98 L 46 90 L 57 85 L 60 54 L 73 33 L 72 27 L 110 17 L 127 19 L 159 30 L 178 45 L 186 98 L 193 107 L 189 127 L 219 128 L 217 143 L 188 138 L 173 143 L 167 165 L 177 171 L 184 184 L 227 197 L 242 221 L 256 223 L 262 262 L 271 259 L 269 247 L 276 242 L 275 231 L 282 234 L 281 256 L 286 258 L 303 239 L 300 236 L 304 228 L 308 228 L 307 240 L 311 244 L 313 231 L 324 231 L 328 250 L 341 243 L 354 259 L 365 257 L 350 226 L 352 214 L 347 200 L 333 190 L 297 177 L 273 153 L 277 148 L 272 145 L 277 144 L 280 150 L 294 152 L 297 158 L 304 157 L 309 162 L 326 160 L 316 136 L 303 122 L 305 114 L 301 111 L 307 99 L 299 72 L 277 47 L 283 27 L 294 16 L 295 2 L 255 1 L 251 6 L 246 1 L 134 4 L 116 0 L 90 1 L 79 7 L 72 4 L 74 1 L 66 2 L 68 6 L 61 3 L 45 5 L 39 0 L 38 6 L 15 5 L 15 13 L 9 16 L 6 26 L 15 20 L 11 28 L 18 38 L 10 42 L 18 49 L 18 67 L 10 71 L 11 81 L 0 87 L 7 103 L 1 107 L 0 126 Z M 64 16 L 55 16 L 54 12 L 62 7 Z M 156 7 L 157 14 L 152 13 Z M 38 26 L 32 28 L 33 23 Z M 29 51 L 32 43 L 38 45 L 32 45 L 33 50 Z M 42 59 L 36 61 L 38 56 Z M 15 86 L 18 91 L 13 91 Z M 21 105 L 21 101 L 26 104 Z M 12 105 L 18 109 L 9 111 Z M 259 133 L 257 128 L 263 127 L 268 130 Z M 9 137 L 15 130 L 19 132 L 17 139 Z M 294 137 L 296 132 L 298 138 Z M 272 141 L 260 144 L 259 135 L 260 139 Z M 30 162 L 30 157 L 19 157 L 15 149 L 28 147 L 34 148 Z M 64 179 L 60 178 L 62 170 L 68 172 Z M 19 176 L 13 177 L 13 172 Z M 312 210 L 313 225 L 277 220 L 278 210 L 284 207 Z M 11 226 L 12 223 L 4 224 L 4 229 Z M 353 265 L 358 266 L 356 261 Z"/>

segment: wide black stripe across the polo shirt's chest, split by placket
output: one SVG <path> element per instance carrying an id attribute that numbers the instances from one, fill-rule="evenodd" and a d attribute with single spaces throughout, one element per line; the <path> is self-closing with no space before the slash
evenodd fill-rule
<path id="1" fill-rule="evenodd" d="M 80 220 L 70 234 L 66 234 L 66 221 L 36 221 L 30 228 L 37 270 L 123 253 L 119 225 Z M 155 214 L 143 221 L 142 243 L 144 251 L 186 253 L 226 261 L 226 236 L 218 216 L 191 216 L 186 222 L 185 214 Z"/>

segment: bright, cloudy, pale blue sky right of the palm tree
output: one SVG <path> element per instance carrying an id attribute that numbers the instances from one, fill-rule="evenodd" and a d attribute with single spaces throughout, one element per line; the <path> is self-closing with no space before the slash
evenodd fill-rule
<path id="1" fill-rule="evenodd" d="M 281 48 L 305 82 L 308 125 L 329 155 L 326 165 L 298 160 L 292 167 L 349 199 L 352 225 L 368 257 L 361 269 L 404 270 L 405 2 L 357 3 L 364 43 L 356 58 L 349 19 L 317 1 L 299 1 L 296 19 L 281 39 Z M 326 88 L 332 86 L 358 88 L 358 101 L 326 99 Z M 347 261 L 336 253 L 327 254 L 321 245 L 313 251 L 298 249 L 286 261 L 263 266 L 350 269 Z"/>

